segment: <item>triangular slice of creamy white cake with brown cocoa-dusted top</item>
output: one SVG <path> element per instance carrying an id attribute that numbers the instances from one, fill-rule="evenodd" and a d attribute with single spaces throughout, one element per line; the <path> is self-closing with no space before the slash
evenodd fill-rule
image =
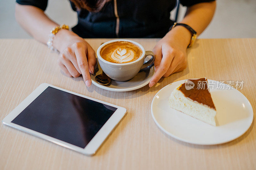
<path id="1" fill-rule="evenodd" d="M 206 78 L 190 79 L 178 85 L 169 97 L 169 106 L 216 126 L 216 108 L 212 101 Z"/>

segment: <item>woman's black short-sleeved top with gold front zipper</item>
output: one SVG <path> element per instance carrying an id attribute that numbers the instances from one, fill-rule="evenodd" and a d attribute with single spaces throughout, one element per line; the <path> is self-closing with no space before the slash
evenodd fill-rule
<path id="1" fill-rule="evenodd" d="M 180 0 L 180 3 L 189 7 L 210 1 L 212 0 Z M 47 7 L 47 0 L 16 2 L 42 10 Z M 85 9 L 76 10 L 71 2 L 78 17 L 78 23 L 72 31 L 83 38 L 162 38 L 173 24 L 170 11 L 175 4 L 176 0 L 112 0 L 100 12 L 89 12 Z"/>

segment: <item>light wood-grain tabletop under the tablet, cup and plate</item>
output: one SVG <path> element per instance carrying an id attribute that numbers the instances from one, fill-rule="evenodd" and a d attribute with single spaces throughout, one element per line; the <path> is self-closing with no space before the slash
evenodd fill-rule
<path id="1" fill-rule="evenodd" d="M 159 39 L 133 39 L 152 50 Z M 97 49 L 107 39 L 88 39 Z M 243 80 L 242 92 L 256 110 L 256 39 L 202 39 L 188 49 L 188 68 L 160 83 L 130 92 L 86 88 L 82 77 L 60 72 L 57 53 L 35 40 L 0 40 L 0 120 L 41 83 L 49 83 L 127 108 L 128 114 L 93 157 L 84 156 L 0 125 L 0 169 L 255 169 L 256 126 L 220 145 L 180 142 L 161 131 L 150 105 L 155 94 L 178 80 L 206 77 Z"/>

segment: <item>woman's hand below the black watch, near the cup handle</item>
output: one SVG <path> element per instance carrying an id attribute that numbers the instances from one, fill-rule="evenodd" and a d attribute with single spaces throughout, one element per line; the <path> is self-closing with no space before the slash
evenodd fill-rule
<path id="1" fill-rule="evenodd" d="M 164 38 L 157 42 L 153 49 L 156 55 L 155 75 L 151 78 L 152 87 L 162 77 L 184 70 L 187 67 L 186 49 L 191 39 L 191 33 L 184 27 L 176 26 Z"/>

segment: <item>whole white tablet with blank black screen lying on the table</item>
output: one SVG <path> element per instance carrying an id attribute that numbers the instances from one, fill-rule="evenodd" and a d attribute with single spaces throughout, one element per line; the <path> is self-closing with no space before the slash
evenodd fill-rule
<path id="1" fill-rule="evenodd" d="M 123 107 L 44 83 L 7 115 L 3 123 L 93 155 L 125 114 Z"/>

